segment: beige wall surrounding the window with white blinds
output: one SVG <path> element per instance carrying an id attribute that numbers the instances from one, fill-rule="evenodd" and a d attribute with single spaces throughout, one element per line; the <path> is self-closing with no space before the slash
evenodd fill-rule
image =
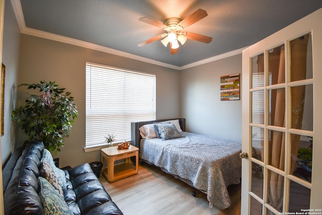
<path id="1" fill-rule="evenodd" d="M 60 167 L 100 161 L 100 151 L 85 153 L 85 65 L 86 61 L 127 68 L 156 75 L 156 118 L 180 117 L 179 74 L 157 66 L 113 54 L 22 34 L 18 83 L 56 81 L 72 93 L 78 107 L 72 133 L 58 153 Z M 19 91 L 18 91 L 19 92 Z M 20 93 L 19 93 L 20 95 Z M 18 99 L 21 104 L 22 98 Z M 19 134 L 19 143 L 23 134 Z"/>

